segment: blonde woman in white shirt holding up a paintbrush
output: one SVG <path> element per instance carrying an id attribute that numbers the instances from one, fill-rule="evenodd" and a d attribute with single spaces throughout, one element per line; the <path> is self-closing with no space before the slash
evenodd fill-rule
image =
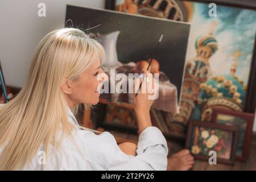
<path id="1" fill-rule="evenodd" d="M 167 142 L 151 125 L 147 93 L 134 97 L 137 146 L 118 146 L 108 132 L 80 129 L 72 111 L 98 103 L 102 59 L 101 44 L 75 28 L 40 41 L 26 84 L 0 106 L 1 170 L 167 169 Z"/>

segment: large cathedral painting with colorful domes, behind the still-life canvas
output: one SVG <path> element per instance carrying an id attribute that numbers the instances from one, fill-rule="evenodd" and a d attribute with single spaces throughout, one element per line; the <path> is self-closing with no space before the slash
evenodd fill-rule
<path id="1" fill-rule="evenodd" d="M 117 11 L 191 23 L 180 112 L 156 111 L 179 127 L 175 133 L 184 133 L 189 119 L 210 121 L 214 108 L 254 111 L 256 11 L 226 4 L 217 4 L 216 16 L 209 16 L 209 3 L 115 1 Z"/>

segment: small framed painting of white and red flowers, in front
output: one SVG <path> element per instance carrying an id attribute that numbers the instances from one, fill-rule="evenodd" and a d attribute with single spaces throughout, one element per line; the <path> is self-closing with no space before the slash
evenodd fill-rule
<path id="1" fill-rule="evenodd" d="M 195 159 L 209 160 L 215 151 L 216 162 L 233 165 L 238 141 L 238 127 L 210 122 L 189 121 L 186 148 Z"/>

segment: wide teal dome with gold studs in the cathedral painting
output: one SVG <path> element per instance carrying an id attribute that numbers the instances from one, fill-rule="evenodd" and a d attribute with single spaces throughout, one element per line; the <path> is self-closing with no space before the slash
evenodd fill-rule
<path id="1" fill-rule="evenodd" d="M 200 85 L 199 100 L 210 98 L 227 98 L 243 106 L 246 96 L 246 85 L 237 76 L 216 76 Z"/>

